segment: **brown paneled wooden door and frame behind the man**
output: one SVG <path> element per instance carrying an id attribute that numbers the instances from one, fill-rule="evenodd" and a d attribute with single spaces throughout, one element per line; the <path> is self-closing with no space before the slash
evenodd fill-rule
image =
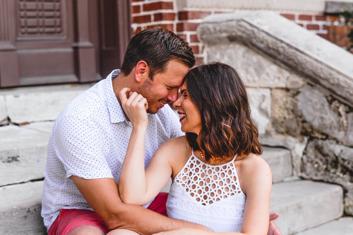
<path id="1" fill-rule="evenodd" d="M 130 0 L 0 0 L 0 87 L 104 78 L 120 68 L 129 9 Z"/>

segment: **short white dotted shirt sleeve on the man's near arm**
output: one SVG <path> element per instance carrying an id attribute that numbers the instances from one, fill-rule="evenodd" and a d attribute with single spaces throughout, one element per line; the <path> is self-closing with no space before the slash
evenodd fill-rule
<path id="1" fill-rule="evenodd" d="M 74 116 L 58 118 L 53 133 L 55 154 L 62 161 L 66 177 L 113 178 L 104 157 L 104 142 L 93 121 Z"/>

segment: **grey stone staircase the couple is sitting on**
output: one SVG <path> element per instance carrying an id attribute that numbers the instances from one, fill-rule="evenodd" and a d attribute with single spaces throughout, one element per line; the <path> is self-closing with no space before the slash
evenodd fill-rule
<path id="1" fill-rule="evenodd" d="M 40 211 L 48 139 L 61 109 L 88 87 L 0 90 L 0 110 L 6 112 L 2 123 L 11 121 L 0 127 L 0 234 L 47 234 Z M 18 126 L 13 120 L 30 123 Z M 262 157 L 273 173 L 270 208 L 280 213 L 276 224 L 283 235 L 353 234 L 353 219 L 341 217 L 341 186 L 293 176 L 286 148 L 264 147 Z"/>

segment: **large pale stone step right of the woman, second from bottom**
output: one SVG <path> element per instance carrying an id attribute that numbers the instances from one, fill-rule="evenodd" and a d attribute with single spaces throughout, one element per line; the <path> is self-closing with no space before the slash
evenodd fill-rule
<path id="1" fill-rule="evenodd" d="M 310 180 L 273 184 L 270 211 L 279 212 L 276 224 L 282 235 L 298 233 L 341 217 L 343 190 Z"/>

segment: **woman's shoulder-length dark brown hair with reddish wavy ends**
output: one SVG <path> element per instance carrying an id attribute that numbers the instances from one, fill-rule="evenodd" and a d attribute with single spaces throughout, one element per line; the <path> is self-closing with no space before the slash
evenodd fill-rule
<path id="1" fill-rule="evenodd" d="M 199 135 L 186 132 L 194 150 L 205 152 L 205 160 L 262 154 L 244 83 L 232 66 L 215 62 L 199 65 L 190 70 L 184 82 L 201 115 Z"/>

